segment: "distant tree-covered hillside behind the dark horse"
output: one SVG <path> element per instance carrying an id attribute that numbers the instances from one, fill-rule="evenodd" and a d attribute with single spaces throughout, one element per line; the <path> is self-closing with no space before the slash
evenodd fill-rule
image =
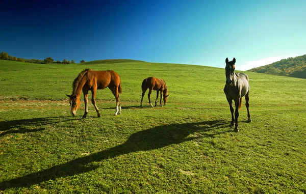
<path id="1" fill-rule="evenodd" d="M 253 68 L 248 71 L 306 78 L 306 54 L 294 58 L 283 59 L 270 65 Z"/>

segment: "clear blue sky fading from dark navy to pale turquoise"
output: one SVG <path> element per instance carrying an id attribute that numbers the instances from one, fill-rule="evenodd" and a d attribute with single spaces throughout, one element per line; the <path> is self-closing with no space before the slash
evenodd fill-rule
<path id="1" fill-rule="evenodd" d="M 0 52 L 247 70 L 306 54 L 306 1 L 5 1 Z"/>

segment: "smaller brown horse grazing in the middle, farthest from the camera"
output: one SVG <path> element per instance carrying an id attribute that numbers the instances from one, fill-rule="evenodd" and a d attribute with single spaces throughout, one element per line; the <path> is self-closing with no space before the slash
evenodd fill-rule
<path id="1" fill-rule="evenodd" d="M 145 78 L 142 81 L 142 85 L 141 85 L 141 89 L 142 89 L 142 95 L 141 95 L 141 102 L 140 102 L 140 106 L 142 106 L 142 100 L 143 100 L 143 96 L 144 93 L 147 89 L 149 89 L 149 93 L 148 93 L 148 99 L 149 99 L 149 104 L 153 107 L 150 97 L 151 97 L 151 93 L 152 90 L 156 90 L 157 94 L 156 94 L 156 100 L 155 100 L 155 106 L 157 106 L 157 99 L 158 99 L 158 93 L 161 93 L 161 100 L 160 100 L 160 104 L 162 105 L 162 96 L 164 95 L 164 104 L 166 105 L 167 103 L 167 99 L 168 99 L 168 88 L 167 85 L 165 83 L 165 81 L 163 79 L 159 79 L 159 78 L 155 78 L 155 77 L 148 77 Z"/>

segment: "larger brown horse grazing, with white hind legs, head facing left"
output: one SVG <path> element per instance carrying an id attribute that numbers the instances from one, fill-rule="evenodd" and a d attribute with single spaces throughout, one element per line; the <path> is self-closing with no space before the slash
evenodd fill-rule
<path id="1" fill-rule="evenodd" d="M 95 95 L 96 90 L 105 89 L 108 87 L 116 98 L 116 112 L 117 114 L 121 113 L 121 106 L 119 100 L 119 93 L 121 93 L 121 81 L 119 75 L 112 70 L 108 71 L 92 71 L 91 69 L 85 69 L 82 71 L 77 78 L 74 79 L 72 84 L 72 94 L 67 95 L 70 98 L 70 106 L 71 106 L 71 115 L 77 115 L 77 110 L 81 104 L 80 96 L 81 92 L 83 91 L 84 94 L 84 102 L 85 102 L 85 113 L 83 118 L 86 118 L 88 113 L 88 106 L 87 106 L 87 97 L 88 91 L 91 91 L 91 102 L 94 105 L 98 117 L 101 117 L 99 113 L 99 109 L 95 103 Z"/>

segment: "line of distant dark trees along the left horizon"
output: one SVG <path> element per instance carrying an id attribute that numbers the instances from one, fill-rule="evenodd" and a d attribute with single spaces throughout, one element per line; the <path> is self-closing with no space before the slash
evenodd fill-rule
<path id="1" fill-rule="evenodd" d="M 1 52 L 0 53 L 0 59 L 1 60 L 8 60 L 8 61 L 18 61 L 18 62 L 28 62 L 28 63 L 40 63 L 40 64 L 47 64 L 47 63 L 52 63 L 52 64 L 73 64 L 75 63 L 74 60 L 69 60 L 67 61 L 64 59 L 63 61 L 54 61 L 51 57 L 47 57 L 44 60 L 38 60 L 38 59 L 22 59 L 22 58 L 17 58 L 10 56 L 7 52 Z M 85 63 L 84 60 L 81 60 L 80 63 Z"/>

